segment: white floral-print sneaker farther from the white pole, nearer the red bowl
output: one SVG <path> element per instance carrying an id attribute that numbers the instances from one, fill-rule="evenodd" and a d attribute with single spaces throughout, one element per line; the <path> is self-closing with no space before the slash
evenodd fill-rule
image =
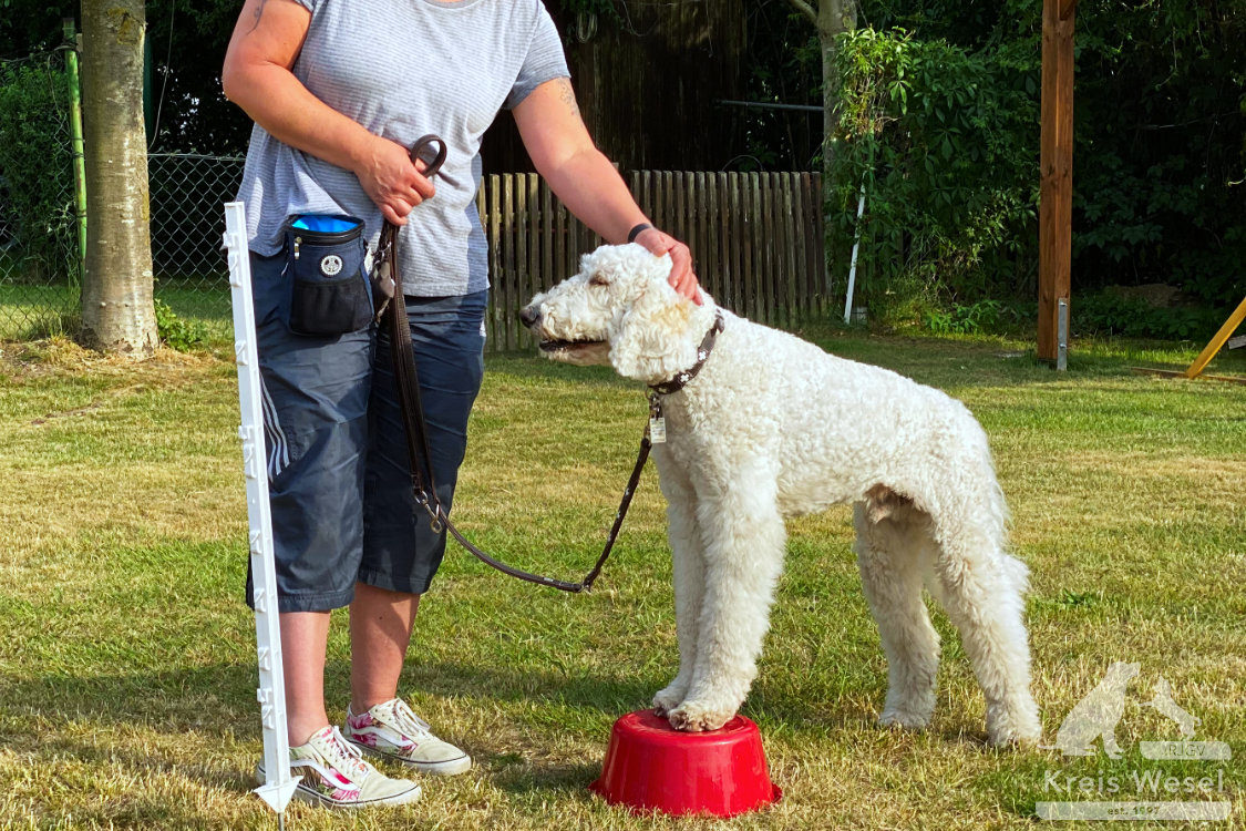
<path id="1" fill-rule="evenodd" d="M 343 735 L 368 753 L 411 765 L 421 774 L 454 776 L 471 767 L 471 756 L 432 735 L 429 723 L 400 698 L 361 715 L 346 708 Z"/>

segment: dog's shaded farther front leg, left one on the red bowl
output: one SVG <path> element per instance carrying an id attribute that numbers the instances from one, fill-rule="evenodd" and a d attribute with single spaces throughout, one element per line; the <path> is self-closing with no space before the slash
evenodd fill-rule
<path id="1" fill-rule="evenodd" d="M 659 462 L 664 462 L 659 456 Z M 705 591 L 705 554 L 697 527 L 697 495 L 685 471 L 674 462 L 659 463 L 662 493 L 667 497 L 670 557 L 675 579 L 675 637 L 679 673 L 653 696 L 658 715 L 673 710 L 688 694 L 697 665 L 697 618 Z"/>

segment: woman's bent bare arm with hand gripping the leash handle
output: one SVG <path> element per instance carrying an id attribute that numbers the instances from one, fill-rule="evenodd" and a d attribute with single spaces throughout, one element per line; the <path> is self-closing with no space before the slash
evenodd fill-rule
<path id="1" fill-rule="evenodd" d="M 221 72 L 226 97 L 278 141 L 354 172 L 385 218 L 405 224 L 411 208 L 434 194 L 432 183 L 406 148 L 333 110 L 294 77 L 310 22 L 294 0 L 247 0 Z"/>

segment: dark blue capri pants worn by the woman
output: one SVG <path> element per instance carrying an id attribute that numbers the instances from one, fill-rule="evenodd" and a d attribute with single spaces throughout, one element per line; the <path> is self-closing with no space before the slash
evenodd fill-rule
<path id="1" fill-rule="evenodd" d="M 446 549 L 411 495 L 389 333 L 294 334 L 284 254 L 252 253 L 282 612 L 348 605 L 355 583 L 422 594 Z M 437 495 L 450 508 L 483 375 L 488 292 L 406 298 Z M 247 603 L 253 603 L 247 576 Z"/>

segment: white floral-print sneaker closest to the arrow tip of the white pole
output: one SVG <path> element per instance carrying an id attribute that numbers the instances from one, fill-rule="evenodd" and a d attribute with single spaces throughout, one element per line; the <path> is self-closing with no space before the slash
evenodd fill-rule
<path id="1" fill-rule="evenodd" d="M 338 728 L 328 726 L 290 748 L 290 775 L 302 776 L 294 799 L 329 807 L 401 805 L 420 799 L 420 786 L 406 779 L 390 779 L 360 757 Z M 255 779 L 265 781 L 264 762 L 255 766 Z"/>

